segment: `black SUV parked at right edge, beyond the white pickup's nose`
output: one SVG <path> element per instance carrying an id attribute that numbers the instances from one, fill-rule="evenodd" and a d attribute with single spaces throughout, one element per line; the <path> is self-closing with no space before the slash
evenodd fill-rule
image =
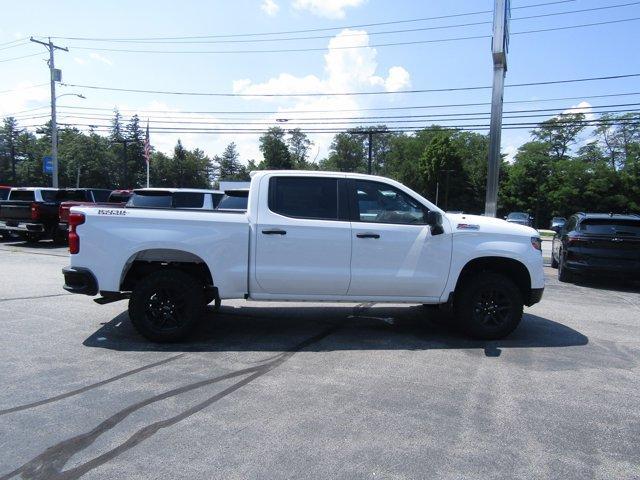
<path id="1" fill-rule="evenodd" d="M 640 279 L 640 215 L 576 213 L 553 237 L 558 279 L 577 273 Z"/>

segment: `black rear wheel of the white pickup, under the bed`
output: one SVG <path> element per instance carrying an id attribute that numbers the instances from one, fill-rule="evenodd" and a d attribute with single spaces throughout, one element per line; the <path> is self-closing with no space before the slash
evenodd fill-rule
<path id="1" fill-rule="evenodd" d="M 138 282 L 129 299 L 135 329 L 153 342 L 175 342 L 187 336 L 203 311 L 203 288 L 180 270 L 160 270 Z"/>

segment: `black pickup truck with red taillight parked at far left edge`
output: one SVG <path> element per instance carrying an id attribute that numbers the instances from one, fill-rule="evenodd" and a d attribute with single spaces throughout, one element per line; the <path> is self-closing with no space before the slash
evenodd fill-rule
<path id="1" fill-rule="evenodd" d="M 0 201 L 0 229 L 29 242 L 44 238 L 64 241 L 58 230 L 60 203 L 67 200 L 95 202 L 110 190 L 95 188 L 12 188 L 7 200 Z"/>

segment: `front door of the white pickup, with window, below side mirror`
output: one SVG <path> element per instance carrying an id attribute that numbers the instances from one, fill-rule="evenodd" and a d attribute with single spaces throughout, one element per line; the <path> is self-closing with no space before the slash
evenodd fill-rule
<path id="1" fill-rule="evenodd" d="M 440 297 L 449 274 L 451 235 L 432 235 L 426 207 L 407 193 L 369 180 L 351 185 L 355 212 L 348 295 Z"/>

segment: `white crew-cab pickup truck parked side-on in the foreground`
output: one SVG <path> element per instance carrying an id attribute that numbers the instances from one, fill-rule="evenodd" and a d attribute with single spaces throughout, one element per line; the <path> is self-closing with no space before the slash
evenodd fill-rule
<path id="1" fill-rule="evenodd" d="M 393 180 L 260 171 L 247 211 L 72 208 L 64 288 L 129 298 L 152 341 L 220 299 L 440 305 L 476 338 L 511 333 L 542 298 L 538 233 L 446 214 Z"/>

